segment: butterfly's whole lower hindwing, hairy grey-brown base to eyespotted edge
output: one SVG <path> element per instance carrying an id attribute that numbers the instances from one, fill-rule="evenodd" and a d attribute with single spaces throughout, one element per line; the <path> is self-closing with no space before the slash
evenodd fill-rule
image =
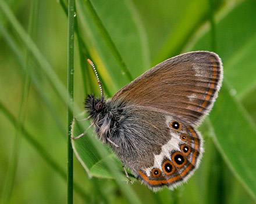
<path id="1" fill-rule="evenodd" d="M 193 124 L 147 107 L 126 106 L 125 118 L 110 139 L 127 167 L 148 187 L 172 188 L 198 166 L 202 139 Z M 122 116 L 121 116 L 122 118 Z"/>

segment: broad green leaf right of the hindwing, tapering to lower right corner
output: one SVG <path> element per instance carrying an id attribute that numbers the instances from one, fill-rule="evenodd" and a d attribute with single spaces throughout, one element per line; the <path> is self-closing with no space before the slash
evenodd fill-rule
<path id="1" fill-rule="evenodd" d="M 229 89 L 224 81 L 210 115 L 214 141 L 234 175 L 256 199 L 256 126 Z"/>

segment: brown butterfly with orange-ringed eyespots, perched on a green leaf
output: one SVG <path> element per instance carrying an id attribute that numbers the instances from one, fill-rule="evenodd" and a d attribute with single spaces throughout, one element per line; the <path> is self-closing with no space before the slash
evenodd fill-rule
<path id="1" fill-rule="evenodd" d="M 146 71 L 111 99 L 104 99 L 100 86 L 101 97 L 91 94 L 85 107 L 99 139 L 135 177 L 153 190 L 172 188 L 200 163 L 204 149 L 195 127 L 211 110 L 222 78 L 217 54 L 184 53 Z"/>

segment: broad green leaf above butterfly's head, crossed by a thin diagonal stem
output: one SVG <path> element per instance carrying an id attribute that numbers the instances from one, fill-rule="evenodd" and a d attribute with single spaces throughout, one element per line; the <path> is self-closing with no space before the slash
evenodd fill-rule
<path id="1" fill-rule="evenodd" d="M 102 23 L 109 31 L 109 35 L 120 55 L 129 67 L 129 71 L 133 78 L 142 74 L 149 68 L 147 34 L 144 29 L 140 28 L 140 16 L 133 11 L 133 3 L 129 1 L 94 1 L 93 6 L 97 10 L 98 16 Z M 109 8 L 116 8 L 110 9 Z M 136 13 L 136 15 L 134 14 Z M 121 15 L 120 15 L 121 14 Z M 134 17 L 135 16 L 135 17 Z M 94 56 L 94 64 L 98 65 L 98 72 L 107 81 L 111 95 L 114 94 L 122 86 L 130 82 L 125 77 L 125 73 L 119 68 L 119 64 L 113 58 L 109 48 L 106 45 L 98 28 L 84 5 L 83 0 L 77 1 L 77 17 L 80 20 L 81 33 L 87 38 L 88 48 Z M 118 25 L 113 27 L 113 25 Z"/>

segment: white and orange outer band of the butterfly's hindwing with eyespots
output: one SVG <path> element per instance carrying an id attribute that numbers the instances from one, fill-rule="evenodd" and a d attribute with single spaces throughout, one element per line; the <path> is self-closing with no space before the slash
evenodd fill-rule
<path id="1" fill-rule="evenodd" d="M 170 118 L 168 116 L 167 121 L 172 124 Z M 170 140 L 162 146 L 159 155 L 154 155 L 154 165 L 137 170 L 143 182 L 152 189 L 179 185 L 193 174 L 200 163 L 203 151 L 200 134 L 182 121 L 179 124 L 183 127 L 173 129 L 169 126 Z"/>

